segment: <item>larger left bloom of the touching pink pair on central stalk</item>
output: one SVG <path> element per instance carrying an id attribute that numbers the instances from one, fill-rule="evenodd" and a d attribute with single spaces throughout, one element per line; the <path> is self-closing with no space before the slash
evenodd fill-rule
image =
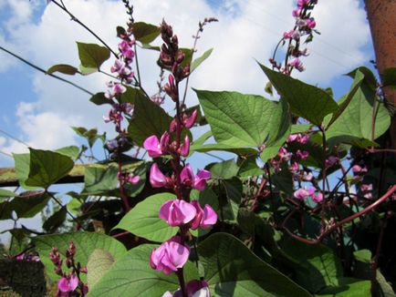
<path id="1" fill-rule="evenodd" d="M 184 200 L 169 200 L 162 204 L 159 217 L 172 226 L 182 226 L 195 218 L 197 210 Z"/>

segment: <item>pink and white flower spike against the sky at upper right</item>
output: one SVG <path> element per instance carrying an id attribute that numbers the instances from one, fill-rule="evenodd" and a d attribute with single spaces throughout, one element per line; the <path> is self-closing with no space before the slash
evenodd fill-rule
<path id="1" fill-rule="evenodd" d="M 294 68 L 298 71 L 304 71 L 304 66 L 300 60 L 301 56 L 308 56 L 307 48 L 301 49 L 303 44 L 302 37 L 307 36 L 304 43 L 308 43 L 313 38 L 314 28 L 317 26 L 314 17 L 311 17 L 310 11 L 318 4 L 318 0 L 298 0 L 297 7 L 293 10 L 293 16 L 296 19 L 295 26 L 283 34 L 281 42 L 288 41 L 287 58 L 285 66 L 278 64 L 275 58 L 271 58 L 269 62 L 280 72 L 290 75 Z"/>

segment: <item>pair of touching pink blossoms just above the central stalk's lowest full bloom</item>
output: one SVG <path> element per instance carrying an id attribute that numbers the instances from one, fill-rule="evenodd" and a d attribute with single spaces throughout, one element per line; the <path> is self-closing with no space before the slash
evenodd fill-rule
<path id="1" fill-rule="evenodd" d="M 172 226 L 188 226 L 193 230 L 207 229 L 217 221 L 217 214 L 206 204 L 203 208 L 198 201 L 169 200 L 162 204 L 159 217 Z"/>

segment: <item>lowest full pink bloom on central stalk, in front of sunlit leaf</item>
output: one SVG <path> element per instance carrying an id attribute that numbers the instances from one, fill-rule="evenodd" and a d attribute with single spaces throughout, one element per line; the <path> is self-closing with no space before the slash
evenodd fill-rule
<path id="1" fill-rule="evenodd" d="M 170 274 L 177 271 L 188 261 L 190 248 L 182 244 L 180 237 L 173 236 L 151 251 L 150 266 L 156 271 Z"/>

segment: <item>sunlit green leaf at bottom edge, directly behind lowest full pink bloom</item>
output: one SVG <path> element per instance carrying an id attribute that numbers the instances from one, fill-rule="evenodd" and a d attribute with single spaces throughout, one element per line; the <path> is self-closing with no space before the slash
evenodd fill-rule
<path id="1" fill-rule="evenodd" d="M 157 245 L 142 244 L 128 251 L 115 261 L 109 271 L 91 289 L 88 297 L 161 297 L 164 292 L 174 292 L 179 288 L 175 273 L 170 275 L 155 271 L 150 267 L 150 254 Z M 183 267 L 186 282 L 199 279 L 198 271 L 192 262 Z"/>

